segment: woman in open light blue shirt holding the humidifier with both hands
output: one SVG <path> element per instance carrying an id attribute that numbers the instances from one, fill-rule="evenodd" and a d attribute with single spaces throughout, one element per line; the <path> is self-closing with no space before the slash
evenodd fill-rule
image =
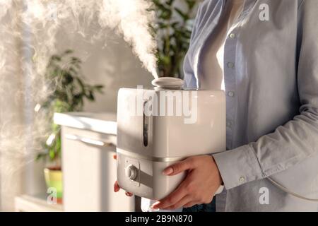
<path id="1" fill-rule="evenodd" d="M 165 169 L 167 176 L 188 174 L 153 208 L 317 211 L 317 21 L 317 0 L 201 4 L 184 80 L 225 90 L 227 151 Z M 221 184 L 226 191 L 211 203 Z"/>

